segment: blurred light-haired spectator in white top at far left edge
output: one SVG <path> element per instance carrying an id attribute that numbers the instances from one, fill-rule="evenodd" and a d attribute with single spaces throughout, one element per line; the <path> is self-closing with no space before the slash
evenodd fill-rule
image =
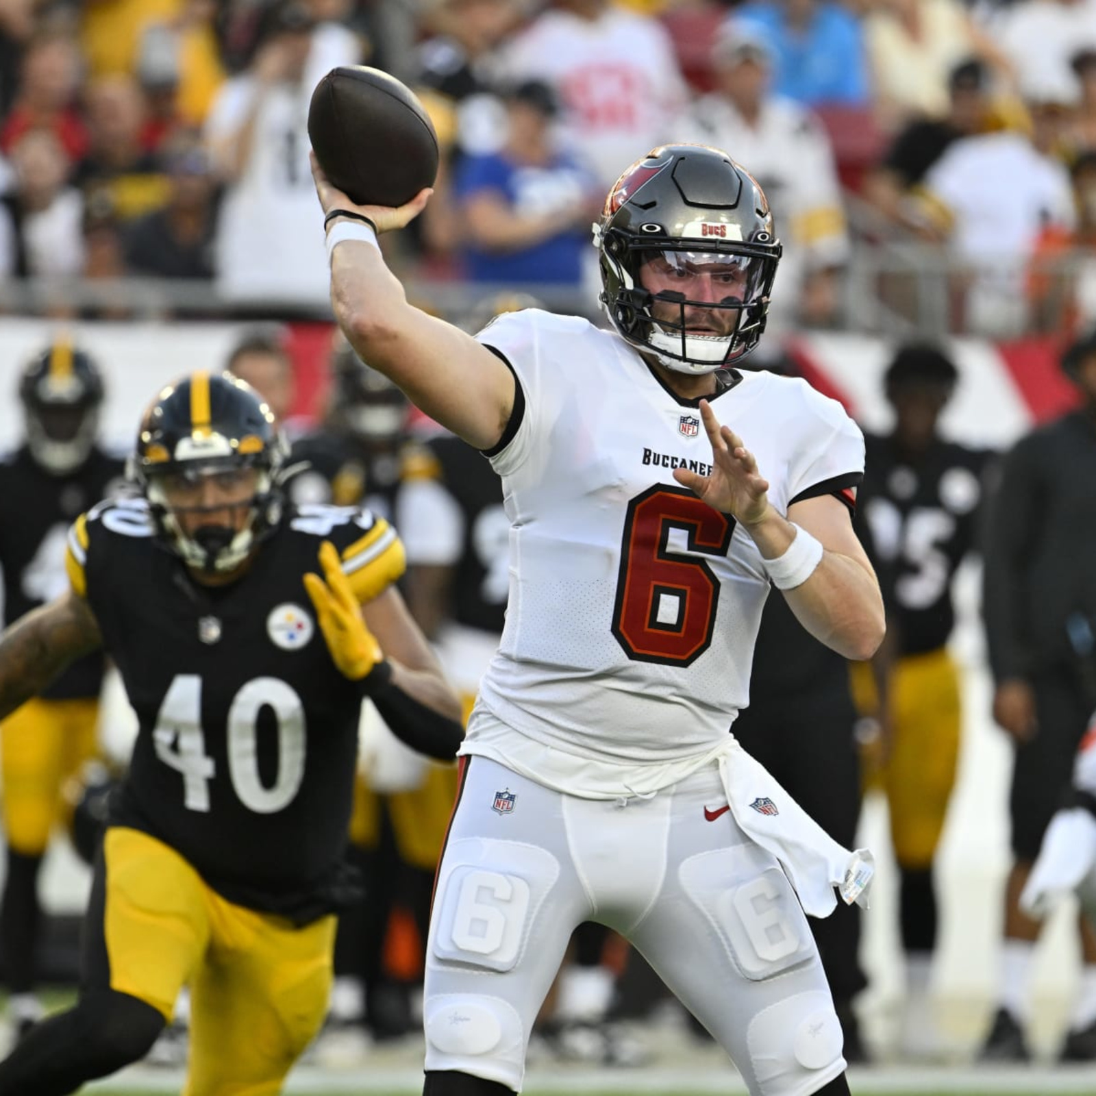
<path id="1" fill-rule="evenodd" d="M 7 263 L 21 277 L 79 274 L 83 269 L 83 198 L 68 185 L 69 160 L 48 129 L 35 129 L 12 149 L 15 189 L 2 199 L 14 254 Z"/>

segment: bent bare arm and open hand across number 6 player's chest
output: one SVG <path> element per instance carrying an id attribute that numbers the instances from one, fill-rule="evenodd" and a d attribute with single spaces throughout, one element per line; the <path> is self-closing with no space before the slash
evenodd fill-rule
<path id="1" fill-rule="evenodd" d="M 678 468 L 674 478 L 709 506 L 730 514 L 753 538 L 764 559 L 783 556 L 796 539 L 795 522 L 822 545 L 810 578 L 784 591 L 800 624 L 846 659 L 870 659 L 886 631 L 882 593 L 867 553 L 853 530 L 848 509 L 832 495 L 792 504 L 787 516 L 768 501 L 768 481 L 742 438 L 721 426 L 707 400 L 700 416 L 711 442 L 712 471 Z"/>

